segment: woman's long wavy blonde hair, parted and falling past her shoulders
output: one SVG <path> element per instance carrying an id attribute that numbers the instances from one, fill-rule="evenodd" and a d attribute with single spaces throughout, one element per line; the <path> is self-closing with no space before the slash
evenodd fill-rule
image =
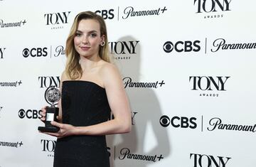
<path id="1" fill-rule="evenodd" d="M 109 56 L 109 45 L 107 41 L 107 27 L 104 19 L 93 13 L 92 11 L 83 11 L 77 16 L 75 16 L 73 26 L 71 27 L 70 33 L 68 35 L 68 39 L 66 41 L 65 54 L 67 56 L 67 63 L 65 66 L 65 74 L 71 80 L 80 79 L 82 77 L 82 68 L 80 66 L 80 55 L 75 50 L 74 38 L 75 33 L 78 30 L 78 23 L 82 19 L 93 19 L 100 23 L 100 36 L 105 36 L 105 45 L 100 45 L 99 55 L 102 60 L 110 62 Z"/>

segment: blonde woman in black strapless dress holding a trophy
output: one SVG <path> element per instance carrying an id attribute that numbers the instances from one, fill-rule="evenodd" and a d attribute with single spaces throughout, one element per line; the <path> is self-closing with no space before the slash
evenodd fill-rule
<path id="1" fill-rule="evenodd" d="M 105 135 L 129 132 L 132 120 L 122 78 L 108 57 L 104 19 L 91 11 L 78 14 L 65 53 L 59 122 L 51 122 L 60 130 L 43 132 L 58 137 L 53 166 L 110 166 Z M 110 111 L 114 119 L 108 120 Z"/>

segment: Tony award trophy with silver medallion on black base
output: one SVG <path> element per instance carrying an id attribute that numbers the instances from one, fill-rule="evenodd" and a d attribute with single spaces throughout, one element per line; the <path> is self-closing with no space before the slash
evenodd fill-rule
<path id="1" fill-rule="evenodd" d="M 51 121 L 57 122 L 58 116 L 58 107 L 55 107 L 55 104 L 58 103 L 60 99 L 60 91 L 54 86 L 50 86 L 47 88 L 45 93 L 45 99 L 50 107 L 46 107 L 46 121 L 45 126 L 38 126 L 39 131 L 47 131 L 47 132 L 57 132 L 60 128 L 53 126 L 50 124 Z"/>

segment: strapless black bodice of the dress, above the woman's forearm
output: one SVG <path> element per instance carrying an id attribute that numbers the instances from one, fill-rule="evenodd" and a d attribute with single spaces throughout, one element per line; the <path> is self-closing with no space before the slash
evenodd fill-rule
<path id="1" fill-rule="evenodd" d="M 88 126 L 106 122 L 110 117 L 110 106 L 105 88 L 94 82 L 64 81 L 61 103 L 65 124 Z"/>

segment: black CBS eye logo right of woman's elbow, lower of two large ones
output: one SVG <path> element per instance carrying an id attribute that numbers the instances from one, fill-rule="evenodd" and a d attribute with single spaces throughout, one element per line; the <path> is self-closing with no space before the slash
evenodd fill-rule
<path id="1" fill-rule="evenodd" d="M 191 128 L 191 129 L 196 129 L 197 124 L 196 124 L 196 118 L 195 117 L 172 117 L 171 119 L 163 115 L 160 119 L 159 122 L 161 126 L 167 127 L 169 124 L 171 126 L 174 126 L 175 128 Z"/>

